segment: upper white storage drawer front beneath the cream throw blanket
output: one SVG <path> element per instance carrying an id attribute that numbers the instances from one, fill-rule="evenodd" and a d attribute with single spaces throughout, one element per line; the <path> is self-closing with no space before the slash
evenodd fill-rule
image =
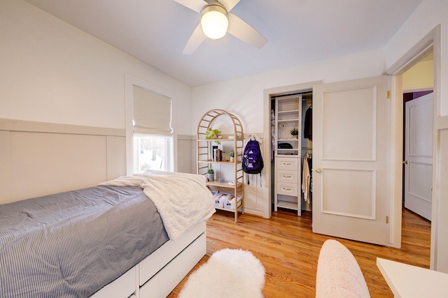
<path id="1" fill-rule="evenodd" d="M 186 248 L 188 244 L 205 232 L 205 228 L 205 221 L 198 223 L 192 230 L 183 233 L 174 241 L 169 240 L 158 248 L 157 251 L 142 260 L 139 264 L 139 285 L 141 286 L 146 283 L 146 281 L 176 257 L 176 255 L 179 255 L 183 251 L 183 248 Z"/>

